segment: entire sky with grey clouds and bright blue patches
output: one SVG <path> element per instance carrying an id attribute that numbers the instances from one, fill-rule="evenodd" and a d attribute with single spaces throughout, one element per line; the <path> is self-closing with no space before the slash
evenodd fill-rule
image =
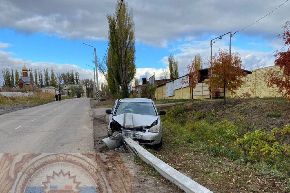
<path id="1" fill-rule="evenodd" d="M 124 0 L 133 8 L 136 30 L 136 76 L 160 75 L 173 53 L 180 75 L 196 53 L 207 62 L 210 40 L 238 31 L 281 5 L 286 0 Z M 1 0 L 0 69 L 20 69 L 22 60 L 30 68 L 53 67 L 62 72 L 78 70 L 90 78 L 94 50 L 99 58 L 107 49 L 106 15 L 114 12 L 116 0 Z M 283 47 L 277 39 L 290 20 L 290 1 L 264 19 L 236 33 L 232 52 L 239 52 L 243 64 L 252 69 L 257 61 L 273 65 L 273 52 Z M 213 53 L 229 46 L 224 36 Z M 1 75 L 0 75 L 1 79 Z M 103 81 L 103 77 L 100 77 Z M 0 83 L 2 85 L 2 83 Z"/>

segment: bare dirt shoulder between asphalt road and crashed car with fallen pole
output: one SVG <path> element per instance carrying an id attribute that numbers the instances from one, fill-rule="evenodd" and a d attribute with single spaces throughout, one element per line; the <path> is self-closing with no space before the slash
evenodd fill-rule
<path id="1" fill-rule="evenodd" d="M 102 139 L 107 137 L 107 127 L 109 116 L 106 115 L 106 106 L 97 105 L 96 100 L 91 100 L 91 110 L 94 119 L 94 142 L 96 153 L 117 153 L 123 159 L 123 162 L 133 175 L 133 192 L 146 192 L 146 193 L 181 193 L 177 186 L 165 180 L 164 178 L 156 175 L 150 175 L 146 171 L 148 166 L 145 167 L 140 163 L 141 161 L 134 158 L 125 148 L 118 148 L 116 150 L 108 150 Z"/>

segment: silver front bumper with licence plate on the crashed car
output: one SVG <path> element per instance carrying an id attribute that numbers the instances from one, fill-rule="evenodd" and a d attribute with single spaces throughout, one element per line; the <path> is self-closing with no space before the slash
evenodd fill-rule
<path id="1" fill-rule="evenodd" d="M 123 130 L 123 135 L 138 141 L 140 144 L 156 145 L 161 142 L 162 131 L 158 133 Z M 141 136 L 141 138 L 140 138 Z"/>

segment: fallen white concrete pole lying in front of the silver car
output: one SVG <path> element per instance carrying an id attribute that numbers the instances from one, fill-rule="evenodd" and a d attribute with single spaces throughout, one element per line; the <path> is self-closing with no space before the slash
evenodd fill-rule
<path id="1" fill-rule="evenodd" d="M 173 182 L 176 186 L 182 189 L 186 193 L 213 193 L 197 182 L 193 181 L 189 177 L 185 176 L 181 172 L 175 170 L 173 167 L 167 165 L 131 138 L 125 138 L 124 140 L 125 146 L 128 148 L 130 153 L 138 156 L 141 160 L 145 161 L 149 165 L 153 166 L 155 170 L 157 170 L 163 177 L 167 180 Z"/>

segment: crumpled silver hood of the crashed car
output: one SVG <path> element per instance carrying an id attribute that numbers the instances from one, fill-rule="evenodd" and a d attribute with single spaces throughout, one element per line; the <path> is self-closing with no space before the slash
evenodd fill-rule
<path id="1" fill-rule="evenodd" d="M 124 113 L 113 116 L 113 119 L 125 128 L 135 128 L 152 125 L 158 119 L 158 116 Z"/>

